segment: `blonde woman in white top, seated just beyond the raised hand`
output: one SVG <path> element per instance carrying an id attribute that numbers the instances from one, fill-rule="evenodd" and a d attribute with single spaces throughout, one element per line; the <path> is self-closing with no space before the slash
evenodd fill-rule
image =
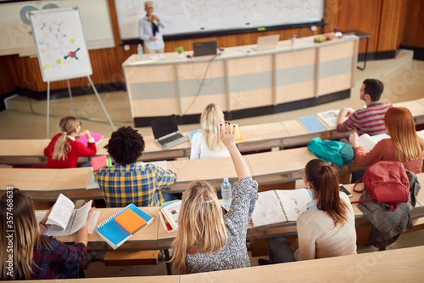
<path id="1" fill-rule="evenodd" d="M 228 149 L 219 139 L 219 125 L 224 122 L 224 113 L 216 104 L 209 104 L 201 113 L 201 132 L 192 137 L 190 159 L 230 157 Z"/>

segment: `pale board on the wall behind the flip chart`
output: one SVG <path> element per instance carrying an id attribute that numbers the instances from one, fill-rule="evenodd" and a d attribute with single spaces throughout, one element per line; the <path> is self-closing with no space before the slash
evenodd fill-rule
<path id="1" fill-rule="evenodd" d="M 78 6 L 88 50 L 114 47 L 108 0 L 0 1 L 0 56 L 37 54 L 30 11 Z"/>

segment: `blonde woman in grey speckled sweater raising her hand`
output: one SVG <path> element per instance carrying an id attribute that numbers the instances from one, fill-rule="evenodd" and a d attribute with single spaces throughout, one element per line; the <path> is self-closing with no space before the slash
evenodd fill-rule
<path id="1" fill-rule="evenodd" d="M 220 139 L 230 151 L 239 181 L 231 206 L 223 216 L 216 190 L 204 181 L 192 182 L 182 195 L 177 236 L 172 242 L 175 269 L 181 274 L 249 267 L 247 224 L 257 202 L 258 183 L 235 146 L 234 127 L 220 126 Z"/>

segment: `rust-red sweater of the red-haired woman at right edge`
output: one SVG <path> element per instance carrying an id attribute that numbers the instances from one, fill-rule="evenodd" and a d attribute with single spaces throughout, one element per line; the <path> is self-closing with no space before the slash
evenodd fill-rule
<path id="1" fill-rule="evenodd" d="M 358 166 L 368 167 L 378 161 L 399 161 L 394 156 L 395 150 L 396 148 L 394 147 L 391 139 L 382 139 L 377 142 L 377 144 L 368 153 L 365 152 L 365 149 L 362 146 L 358 146 L 355 148 L 355 163 L 358 164 Z M 400 162 L 404 163 L 405 169 L 419 174 L 423 167 L 423 158 L 424 151 L 417 160 Z"/>

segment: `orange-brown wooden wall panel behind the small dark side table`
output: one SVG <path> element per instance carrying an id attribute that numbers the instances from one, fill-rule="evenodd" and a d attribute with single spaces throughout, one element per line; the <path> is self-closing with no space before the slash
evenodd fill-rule
<path id="1" fill-rule="evenodd" d="M 338 28 L 369 33 L 368 52 L 377 51 L 382 0 L 339 0 L 338 6 Z M 360 40 L 359 53 L 365 53 L 365 40 Z"/>

